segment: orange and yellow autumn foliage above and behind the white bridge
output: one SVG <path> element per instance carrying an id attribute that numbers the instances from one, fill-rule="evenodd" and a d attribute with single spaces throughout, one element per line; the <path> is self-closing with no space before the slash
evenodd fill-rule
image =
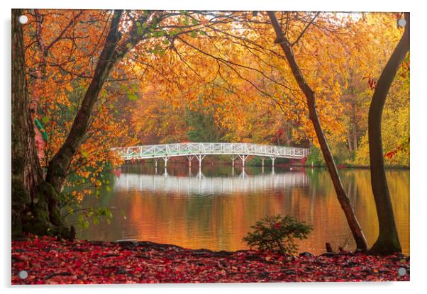
<path id="1" fill-rule="evenodd" d="M 304 96 L 272 43 L 275 35 L 265 13 L 157 11 L 155 25 L 134 21 L 147 14 L 132 11 L 123 16 L 133 22 L 123 27 L 123 33 L 143 34 L 152 27 L 116 64 L 101 91 L 87 135 L 67 171 L 79 178 L 67 182 L 75 187 L 69 189 L 73 196 L 81 199 L 91 193 L 90 188 L 100 185 L 99 174 L 106 166 L 121 163 L 111 147 L 194 139 L 189 135 L 191 115 L 209 119 L 220 141 L 317 144 Z M 111 13 L 35 9 L 26 15 L 30 105 L 48 134 L 41 147 L 44 168 L 70 132 Z M 289 38 L 299 40 L 294 54 L 320 97 L 317 108 L 323 129 L 342 162 L 367 164 L 363 110 L 400 33 L 395 17 L 321 13 L 299 37 L 311 14 L 279 13 L 280 21 L 288 22 Z M 385 127 L 389 150 L 397 149 L 401 141 L 394 137 L 397 128 L 409 132 L 409 58 L 394 84 L 395 99 L 386 115 L 397 111 L 401 120 Z M 388 116 L 385 121 L 389 124 Z M 409 164 L 408 150 L 391 163 Z"/>

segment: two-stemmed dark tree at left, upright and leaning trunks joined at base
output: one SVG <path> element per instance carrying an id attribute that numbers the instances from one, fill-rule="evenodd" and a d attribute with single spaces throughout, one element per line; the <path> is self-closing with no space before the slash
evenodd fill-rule
<path id="1" fill-rule="evenodd" d="M 12 142 L 12 149 L 16 150 L 16 154 L 12 155 L 13 166 L 26 166 L 22 163 L 27 164 L 29 160 L 34 158 L 37 159 L 34 148 L 34 131 L 32 122 L 29 122 L 29 126 L 23 125 L 22 121 L 26 120 L 28 115 L 28 98 L 27 89 L 25 84 L 25 62 L 23 60 L 23 35 L 21 24 L 18 23 L 18 16 L 22 13 L 21 10 L 13 12 L 12 22 L 12 43 L 13 43 L 13 134 L 16 140 Z M 129 32 L 128 40 L 121 42 L 121 33 L 119 31 L 119 24 L 123 11 L 114 11 L 111 25 L 109 27 L 109 33 L 106 36 L 104 48 L 99 55 L 99 61 L 96 64 L 94 77 L 89 84 L 86 94 L 84 95 L 82 106 L 74 118 L 72 128 L 70 130 L 64 145 L 60 147 L 59 151 L 55 154 L 52 160 L 48 164 L 48 173 L 46 174 L 45 181 L 42 180 L 40 164 L 36 161 L 35 165 L 28 164 L 30 166 L 38 167 L 38 171 L 28 171 L 27 174 L 18 170 L 13 171 L 13 183 L 24 183 L 23 179 L 26 179 L 26 175 L 35 177 L 38 181 L 34 181 L 34 185 L 37 188 L 25 189 L 23 185 L 13 184 L 16 186 L 16 193 L 13 193 L 13 215 L 23 215 L 23 217 L 13 217 L 13 227 L 20 228 L 23 232 L 31 232 L 33 234 L 48 234 L 52 236 L 60 236 L 66 239 L 73 239 L 75 236 L 74 227 L 67 228 L 64 225 L 63 217 L 60 215 L 59 205 L 59 193 L 62 190 L 63 183 L 67 177 L 67 169 L 70 166 L 74 154 L 82 144 L 84 135 L 87 132 L 87 128 L 90 122 L 91 113 L 94 108 L 94 104 L 98 100 L 99 93 L 109 77 L 111 69 L 118 60 L 121 60 L 126 55 L 128 50 L 142 40 L 145 33 L 150 30 L 150 26 L 147 26 L 142 33 L 138 32 L 137 26 L 133 26 Z M 153 14 L 150 11 L 148 14 L 138 20 L 140 23 L 145 23 L 148 18 Z M 160 21 L 161 18 L 156 18 L 156 21 Z M 16 44 L 15 44 L 16 43 Z M 15 56 L 16 55 L 16 56 Z M 25 96 L 23 96 L 25 95 Z M 23 103 L 26 103 L 25 105 Z M 16 106 L 15 106 L 16 105 Z M 18 117 L 18 115 L 21 115 Z M 21 121 L 22 120 L 22 121 Z M 21 136 L 21 137 L 20 137 Z M 28 139 L 30 138 L 30 139 Z M 26 146 L 26 142 L 23 140 L 30 140 L 30 148 L 23 149 Z M 19 144 L 17 145 L 18 142 Z M 16 148 L 15 148 L 16 145 Z M 27 150 L 33 154 L 34 157 L 28 159 L 23 156 L 23 151 Z M 34 151 L 31 151 L 34 150 Z M 23 169 L 23 168 L 21 168 Z M 16 175 L 16 176 L 15 176 Z M 30 177 L 28 179 L 30 179 Z M 40 184 L 37 183 L 41 182 Z M 23 192 L 21 193 L 21 190 Z M 21 196 L 22 195 L 22 196 Z M 18 198 L 21 197 L 21 198 Z M 33 197 L 31 197 L 33 196 Z M 28 208 L 30 207 L 30 208 Z M 28 208 L 26 210 L 26 208 Z M 16 211 L 16 213 L 15 213 Z M 23 220 L 25 218 L 25 221 Z M 25 224 L 24 224 L 25 223 Z M 18 230 L 18 229 L 17 229 Z"/>

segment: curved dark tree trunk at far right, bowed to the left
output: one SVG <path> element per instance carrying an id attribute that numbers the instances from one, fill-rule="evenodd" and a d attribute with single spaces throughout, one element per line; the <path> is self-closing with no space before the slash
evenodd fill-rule
<path id="1" fill-rule="evenodd" d="M 368 117 L 371 186 L 379 222 L 379 236 L 370 249 L 370 252 L 375 254 L 401 252 L 396 223 L 394 222 L 392 200 L 390 199 L 384 169 L 381 120 L 382 110 L 390 86 L 392 86 L 402 60 L 404 60 L 406 53 L 409 51 L 409 13 L 405 13 L 405 19 L 406 26 L 404 34 L 378 79 L 374 95 L 372 96 Z"/>

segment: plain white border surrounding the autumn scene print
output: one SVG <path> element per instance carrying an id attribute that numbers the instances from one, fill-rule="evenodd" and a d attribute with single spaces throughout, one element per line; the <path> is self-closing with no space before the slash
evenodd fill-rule
<path id="1" fill-rule="evenodd" d="M 427 196 L 423 183 L 426 182 L 424 170 L 427 168 L 426 152 L 426 6 L 423 1 L 331 1 L 331 0 L 215 0 L 215 1 L 163 1 L 163 0 L 126 0 L 126 1 L 55 1 L 55 0 L 15 0 L 1 1 L 1 156 L 4 157 L 1 169 L 1 224 L 3 232 L 0 242 L 3 261 L 0 270 L 1 285 L 6 293 L 74 293 L 77 289 L 82 293 L 118 293 L 123 290 L 130 293 L 218 293 L 223 291 L 245 291 L 259 293 L 263 288 L 267 291 L 295 293 L 357 293 L 361 291 L 387 293 L 418 293 L 426 290 L 427 278 L 427 238 L 426 208 Z M 10 174 L 11 174 L 11 8 L 55 8 L 55 9 L 204 9 L 204 10 L 288 10 L 288 11 L 410 11 L 411 12 L 411 282 L 408 283 L 284 283 L 284 284 L 209 284 L 209 285 L 79 285 L 62 287 L 13 287 L 10 285 Z"/>

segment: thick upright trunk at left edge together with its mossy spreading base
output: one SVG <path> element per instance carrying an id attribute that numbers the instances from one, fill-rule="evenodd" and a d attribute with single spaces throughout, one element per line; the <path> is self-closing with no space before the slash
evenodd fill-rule
<path id="1" fill-rule="evenodd" d="M 18 21 L 21 14 L 21 9 L 12 9 L 12 237 L 27 232 L 72 239 L 74 228 L 69 230 L 62 224 L 59 209 L 50 209 L 57 194 L 43 182 L 34 145 L 33 118 L 28 109 L 23 25 Z"/>

